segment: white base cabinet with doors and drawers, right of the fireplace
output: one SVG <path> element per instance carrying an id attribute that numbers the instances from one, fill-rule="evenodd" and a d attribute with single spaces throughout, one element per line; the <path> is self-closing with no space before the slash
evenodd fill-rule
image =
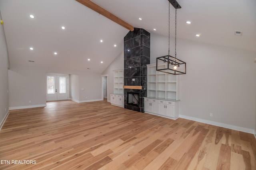
<path id="1" fill-rule="evenodd" d="M 177 119 L 179 117 L 179 101 L 144 98 L 144 111 L 145 113 Z"/>

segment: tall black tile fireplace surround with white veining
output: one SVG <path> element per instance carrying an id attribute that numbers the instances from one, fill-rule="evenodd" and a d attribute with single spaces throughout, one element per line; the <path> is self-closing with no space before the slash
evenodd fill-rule
<path id="1" fill-rule="evenodd" d="M 126 109 L 144 112 L 143 97 L 147 96 L 146 64 L 150 64 L 150 33 L 134 28 L 124 37 L 124 86 L 142 86 L 142 90 L 124 89 Z M 134 95 L 138 97 L 134 99 Z"/>

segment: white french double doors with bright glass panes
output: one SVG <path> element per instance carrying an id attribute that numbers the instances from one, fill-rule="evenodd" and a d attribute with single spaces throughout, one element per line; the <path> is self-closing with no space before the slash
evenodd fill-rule
<path id="1" fill-rule="evenodd" d="M 68 76 L 46 75 L 46 101 L 68 100 Z"/>

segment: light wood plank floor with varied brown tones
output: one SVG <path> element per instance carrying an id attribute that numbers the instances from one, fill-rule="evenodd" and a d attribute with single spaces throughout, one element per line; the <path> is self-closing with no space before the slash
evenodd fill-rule
<path id="1" fill-rule="evenodd" d="M 1 170 L 256 170 L 256 139 L 106 101 L 48 102 L 10 111 L 0 131 L 0 160 L 36 161 L 0 164 Z"/>

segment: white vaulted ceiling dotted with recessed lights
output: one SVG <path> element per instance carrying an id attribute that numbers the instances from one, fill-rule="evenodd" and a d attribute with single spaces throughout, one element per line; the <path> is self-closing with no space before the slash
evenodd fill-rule
<path id="1" fill-rule="evenodd" d="M 168 0 L 92 2 L 134 27 L 168 36 Z M 178 0 L 178 3 L 182 6 L 177 10 L 178 38 L 256 52 L 256 0 Z M 75 0 L 0 0 L 0 12 L 11 65 L 102 73 L 122 54 L 123 38 L 129 31 Z M 170 12 L 173 36 L 172 6 Z M 30 14 L 35 18 L 31 19 Z M 188 20 L 192 24 L 186 24 Z M 62 26 L 66 29 L 62 30 Z M 242 36 L 235 36 L 234 31 L 243 31 Z"/>

